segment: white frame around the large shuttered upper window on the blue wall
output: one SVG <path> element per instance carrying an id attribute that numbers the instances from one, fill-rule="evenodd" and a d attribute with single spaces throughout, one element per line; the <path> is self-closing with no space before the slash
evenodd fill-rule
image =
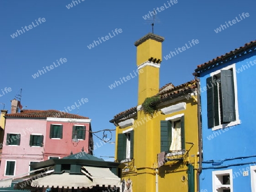
<path id="1" fill-rule="evenodd" d="M 210 73 L 210 77 L 217 76 L 221 73 L 221 70 L 233 70 L 233 85 L 234 85 L 234 108 L 235 108 L 235 114 L 236 114 L 236 120 L 229 123 L 220 124 L 218 126 L 213 126 L 212 131 L 214 130 L 220 130 L 222 128 L 230 127 L 230 126 L 236 126 L 237 124 L 241 123 L 241 120 L 239 119 L 239 112 L 238 112 L 238 99 L 237 99 L 237 74 L 236 74 L 236 64 L 232 64 L 229 66 L 226 66 L 224 68 L 221 68 L 220 70 L 216 70 L 215 72 Z M 207 85 L 206 85 L 207 86 Z M 218 110 L 218 112 L 220 112 Z"/>

